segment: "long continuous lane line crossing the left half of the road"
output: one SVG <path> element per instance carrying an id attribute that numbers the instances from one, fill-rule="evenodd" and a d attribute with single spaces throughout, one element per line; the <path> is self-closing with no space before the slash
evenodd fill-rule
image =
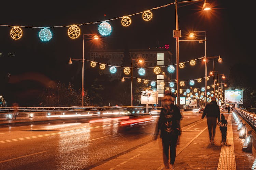
<path id="1" fill-rule="evenodd" d="M 51 133 L 51 134 L 37 135 L 37 136 L 31 136 L 31 137 L 25 137 L 25 138 L 10 139 L 10 140 L 0 141 L 0 143 L 7 143 L 7 142 L 14 142 L 14 141 L 19 141 L 19 140 L 40 138 L 40 137 L 44 137 L 44 136 L 52 136 L 52 135 L 59 135 L 59 134 L 65 134 L 65 133 L 72 133 L 72 132 L 77 132 L 77 131 L 82 131 L 82 130 L 87 130 L 87 129 L 107 127 L 107 126 L 117 125 L 117 124 L 119 124 L 119 123 L 114 123 L 114 124 L 109 124 L 109 125 L 102 125 L 102 126 L 95 126 L 95 127 L 87 127 L 87 128 L 81 128 L 81 129 L 75 129 L 75 130 L 68 130 L 68 131 L 64 131 L 64 132 L 56 132 L 56 133 Z"/>

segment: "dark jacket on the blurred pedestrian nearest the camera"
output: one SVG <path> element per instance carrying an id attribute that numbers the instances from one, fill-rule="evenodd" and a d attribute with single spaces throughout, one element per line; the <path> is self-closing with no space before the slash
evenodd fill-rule
<path id="1" fill-rule="evenodd" d="M 170 109 L 161 109 L 156 133 L 160 130 L 160 137 L 170 137 L 171 135 L 180 135 L 182 118 L 180 109 L 175 105 L 170 105 Z"/>

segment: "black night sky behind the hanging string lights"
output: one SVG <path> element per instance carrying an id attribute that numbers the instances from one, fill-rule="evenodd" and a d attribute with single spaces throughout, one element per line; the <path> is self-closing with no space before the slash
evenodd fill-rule
<path id="1" fill-rule="evenodd" d="M 122 17 L 172 2 L 174 1 L 6 1 L 1 5 L 0 25 L 51 27 L 83 24 Z M 252 5 L 248 3 L 231 0 L 208 2 L 213 5 L 213 9 L 207 13 L 201 10 L 203 1 L 179 8 L 179 29 L 182 32 L 180 40 L 185 39 L 191 31 L 206 31 L 207 56 L 222 57 L 224 61 L 221 64 L 215 63 L 215 71 L 228 78 L 230 66 L 241 62 L 255 63 L 252 52 L 255 43 L 251 38 L 255 14 L 250 10 Z M 151 12 L 151 21 L 144 21 L 142 14 L 131 16 L 132 23 L 129 27 L 123 27 L 120 19 L 108 21 L 112 26 L 112 33 L 106 40 L 111 49 L 155 48 L 169 44 L 173 53 L 172 62 L 176 63 L 176 45 L 172 35 L 175 29 L 175 5 Z M 99 24 L 80 26 L 82 34 L 99 34 Z M 70 57 L 82 58 L 83 54 L 83 37 L 68 37 L 69 27 L 50 28 L 53 37 L 48 42 L 40 40 L 40 28 L 22 28 L 22 38 L 15 41 L 10 37 L 11 28 L 0 26 L 0 52 L 4 55 L 0 57 L 1 76 L 10 73 L 17 78 L 24 74 L 35 74 L 37 76 L 32 77 L 37 77 L 38 81 L 47 86 L 51 80 L 69 81 L 71 74 L 76 74 L 81 69 L 71 70 L 67 64 Z M 200 39 L 203 38 L 204 36 Z M 85 43 L 85 52 L 90 46 L 90 43 Z M 7 57 L 8 52 L 15 53 L 15 57 Z M 204 43 L 180 42 L 180 62 L 203 56 Z M 208 63 L 208 71 L 212 70 L 211 61 Z M 198 62 L 195 67 L 188 65 L 180 72 L 181 81 L 199 77 L 204 77 L 202 62 Z M 80 79 L 79 77 L 77 81 L 81 81 Z M 15 80 L 10 83 L 15 83 Z M 31 88 L 34 84 L 36 83 L 30 84 Z"/>

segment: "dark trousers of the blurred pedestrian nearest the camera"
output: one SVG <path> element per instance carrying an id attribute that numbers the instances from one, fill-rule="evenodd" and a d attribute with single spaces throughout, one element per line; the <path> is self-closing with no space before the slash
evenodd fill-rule
<path id="1" fill-rule="evenodd" d="M 163 163 L 168 165 L 169 150 L 170 150 L 170 164 L 174 164 L 176 157 L 176 146 L 177 146 L 178 135 L 171 135 L 170 137 L 162 137 L 163 146 Z"/>

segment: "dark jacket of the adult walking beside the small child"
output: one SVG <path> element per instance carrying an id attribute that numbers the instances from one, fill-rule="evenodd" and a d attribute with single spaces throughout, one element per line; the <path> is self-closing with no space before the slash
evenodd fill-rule
<path id="1" fill-rule="evenodd" d="M 207 104 L 203 110 L 203 114 L 202 114 L 202 119 L 205 117 L 213 117 L 213 118 L 217 118 L 218 122 L 221 121 L 220 118 L 220 114 L 221 112 L 219 111 L 219 106 L 217 105 L 217 103 L 215 101 L 212 101 L 211 103 Z"/>

